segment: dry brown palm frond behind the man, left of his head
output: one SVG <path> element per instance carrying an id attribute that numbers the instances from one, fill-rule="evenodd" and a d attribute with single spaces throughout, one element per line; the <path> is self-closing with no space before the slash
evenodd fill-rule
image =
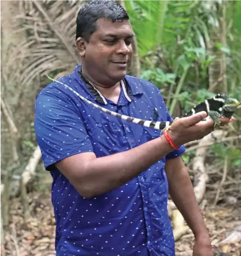
<path id="1" fill-rule="evenodd" d="M 76 14 L 82 1 L 19 1 L 15 32 L 26 38 L 9 52 L 5 62 L 5 76 L 12 75 L 11 66 L 19 63 L 14 79 L 25 89 L 36 77 L 53 71 L 68 74 L 80 62 L 75 46 Z"/>

